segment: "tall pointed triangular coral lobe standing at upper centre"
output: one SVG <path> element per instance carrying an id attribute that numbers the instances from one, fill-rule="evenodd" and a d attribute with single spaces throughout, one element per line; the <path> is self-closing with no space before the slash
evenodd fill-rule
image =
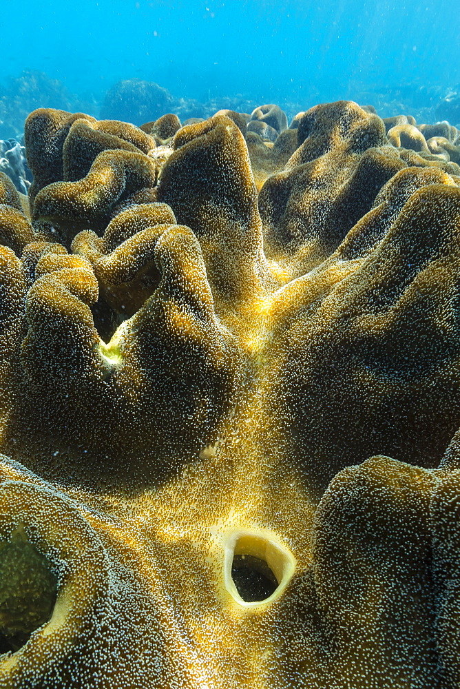
<path id="1" fill-rule="evenodd" d="M 215 115 L 176 134 L 157 198 L 200 239 L 214 294 L 227 303 L 250 301 L 262 289 L 257 194 L 244 137 L 231 119 Z"/>

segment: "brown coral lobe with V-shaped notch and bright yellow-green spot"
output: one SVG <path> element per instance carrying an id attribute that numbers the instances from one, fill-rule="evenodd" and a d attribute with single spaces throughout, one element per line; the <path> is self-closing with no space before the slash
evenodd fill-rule
<path id="1" fill-rule="evenodd" d="M 152 224 L 149 219 L 147 225 Z M 123 251 L 128 250 L 136 258 L 126 265 Z M 64 249 L 39 258 L 25 304 L 28 335 L 21 346 L 19 383 L 34 395 L 17 426 L 10 425 L 10 434 L 18 447 L 28 436 L 37 457 L 54 445 L 65 457 L 64 475 L 84 475 L 86 469 L 78 466 L 83 452 L 92 457 L 94 469 L 99 462 L 102 473 L 109 466 L 115 476 L 129 467 L 133 477 L 144 480 L 150 472 L 160 476 L 173 470 L 216 437 L 231 404 L 231 338 L 216 322 L 200 248 L 188 228 L 149 227 L 117 247 L 109 262 L 105 274 L 103 262 L 96 262 L 96 273 L 115 284 L 154 263 L 158 289 L 105 346 L 90 310 L 98 298 L 90 263 Z M 56 358 L 61 361 L 57 386 L 50 375 Z M 34 397 L 48 399 L 45 415 Z M 82 425 L 81 418 L 91 423 Z M 156 464 L 147 471 L 152 453 Z M 164 466 L 158 463 L 159 456 L 170 453 L 174 462 L 169 457 Z"/>

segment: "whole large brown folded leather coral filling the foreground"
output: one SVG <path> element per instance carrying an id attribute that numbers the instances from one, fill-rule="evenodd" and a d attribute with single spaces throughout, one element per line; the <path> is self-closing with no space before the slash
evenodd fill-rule
<path id="1" fill-rule="evenodd" d="M 155 157 L 30 117 L 61 177 L 32 234 L 3 189 L 0 542 L 58 590 L 4 686 L 459 682 L 458 166 L 355 103 L 234 120 Z M 113 148 L 66 181 L 59 127 Z"/>

